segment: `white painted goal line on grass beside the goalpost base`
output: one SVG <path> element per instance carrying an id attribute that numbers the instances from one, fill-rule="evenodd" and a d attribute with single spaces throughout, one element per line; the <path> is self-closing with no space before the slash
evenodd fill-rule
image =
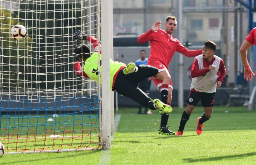
<path id="1" fill-rule="evenodd" d="M 116 114 L 116 116 L 115 116 L 115 133 L 117 132 L 117 126 L 119 124 L 120 118 L 121 118 L 121 115 Z M 113 140 L 114 137 L 115 137 L 115 134 L 113 136 L 111 136 L 111 141 Z M 111 146 L 113 146 L 113 144 L 111 144 Z M 102 165 L 102 164 L 109 165 L 110 160 L 111 160 L 111 153 L 112 153 L 111 149 L 102 150 L 102 154 L 100 156 L 98 165 Z"/>

